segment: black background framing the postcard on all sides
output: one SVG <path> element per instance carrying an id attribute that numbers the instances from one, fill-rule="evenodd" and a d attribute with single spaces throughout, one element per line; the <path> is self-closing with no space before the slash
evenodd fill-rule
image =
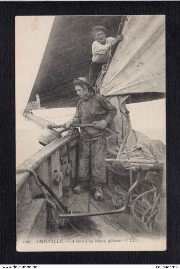
<path id="1" fill-rule="evenodd" d="M 167 251 L 16 252 L 15 16 L 143 14 L 166 15 Z M 180 263 L 179 15 L 178 1 L 0 2 L 1 264 Z"/>

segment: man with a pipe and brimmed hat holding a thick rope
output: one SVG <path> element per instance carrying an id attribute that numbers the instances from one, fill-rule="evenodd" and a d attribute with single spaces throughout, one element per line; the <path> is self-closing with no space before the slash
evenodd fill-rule
<path id="1" fill-rule="evenodd" d="M 95 94 L 85 77 L 74 79 L 73 83 L 81 100 L 74 118 L 64 123 L 64 126 L 69 128 L 75 124 L 94 124 L 94 127 L 81 128 L 78 184 L 74 193 L 80 194 L 90 187 L 93 198 L 101 201 L 102 183 L 106 182 L 106 137 L 109 136 L 104 128 L 112 123 L 117 110 L 103 95 Z"/>

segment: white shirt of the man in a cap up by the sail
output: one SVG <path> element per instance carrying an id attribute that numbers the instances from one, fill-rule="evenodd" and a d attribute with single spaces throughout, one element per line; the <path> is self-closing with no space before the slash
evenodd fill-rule
<path id="1" fill-rule="evenodd" d="M 110 55 L 110 45 L 114 37 L 105 38 L 106 43 L 103 45 L 98 41 L 94 41 L 92 44 L 92 61 L 95 63 L 107 63 Z"/>

